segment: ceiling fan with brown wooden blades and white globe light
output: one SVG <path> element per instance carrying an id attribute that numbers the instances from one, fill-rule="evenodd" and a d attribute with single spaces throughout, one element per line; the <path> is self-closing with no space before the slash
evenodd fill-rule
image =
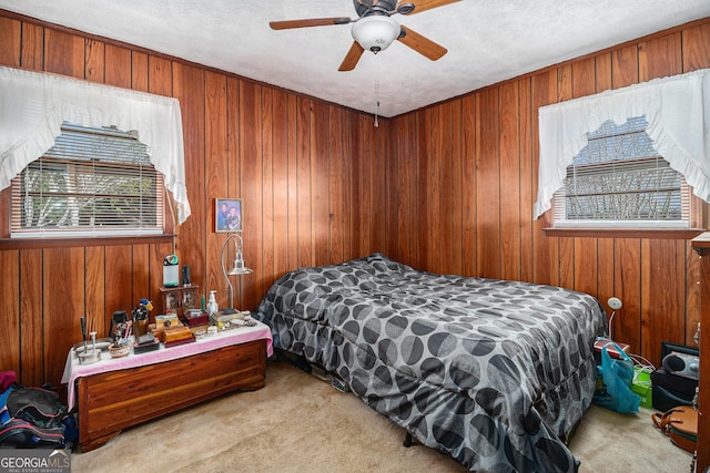
<path id="1" fill-rule="evenodd" d="M 341 63 L 338 71 L 352 71 L 365 50 L 377 54 L 384 51 L 395 40 L 412 48 L 425 58 L 436 61 L 446 54 L 446 48 L 423 37 L 410 28 L 403 27 L 392 16 L 414 14 L 437 7 L 444 7 L 462 0 L 353 0 L 356 19 L 348 17 L 312 18 L 306 20 L 272 21 L 274 30 L 290 30 L 293 28 L 326 27 L 331 24 L 354 23 L 352 29 L 353 45 Z"/>

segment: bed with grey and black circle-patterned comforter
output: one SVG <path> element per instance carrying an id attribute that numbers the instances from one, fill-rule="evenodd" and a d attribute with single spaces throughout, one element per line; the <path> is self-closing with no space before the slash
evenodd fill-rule
<path id="1" fill-rule="evenodd" d="M 301 268 L 255 317 L 274 347 L 470 471 L 568 472 L 589 408 L 599 301 L 520 281 L 436 275 L 382 254 Z"/>

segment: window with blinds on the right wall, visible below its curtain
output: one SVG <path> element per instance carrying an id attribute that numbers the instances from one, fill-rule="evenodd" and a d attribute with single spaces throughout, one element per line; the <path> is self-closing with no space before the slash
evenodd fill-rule
<path id="1" fill-rule="evenodd" d="M 645 116 L 607 121 L 567 167 L 555 227 L 688 228 L 690 186 L 658 154 Z"/>

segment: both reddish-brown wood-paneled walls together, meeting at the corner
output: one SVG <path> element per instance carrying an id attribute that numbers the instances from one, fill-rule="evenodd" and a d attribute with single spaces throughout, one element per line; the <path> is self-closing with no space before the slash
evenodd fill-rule
<path id="1" fill-rule="evenodd" d="M 0 65 L 180 100 L 193 212 L 172 244 L 0 249 L 0 368 L 59 383 L 79 317 L 102 336 L 113 310 L 158 301 L 173 250 L 225 305 L 216 197 L 244 202 L 254 274 L 232 279 L 237 307 L 253 310 L 292 268 L 384 251 L 426 270 L 618 296 L 616 338 L 658 364 L 661 340 L 692 339 L 697 256 L 682 239 L 546 236 L 531 219 L 537 109 L 708 68 L 709 44 L 710 19 L 374 127 L 365 114 L 0 11 Z"/>

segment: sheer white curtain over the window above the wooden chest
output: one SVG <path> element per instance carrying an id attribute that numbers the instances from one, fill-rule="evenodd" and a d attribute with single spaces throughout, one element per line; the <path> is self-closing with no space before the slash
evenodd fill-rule
<path id="1" fill-rule="evenodd" d="M 178 223 L 190 216 L 176 99 L 10 68 L 0 68 L 0 191 L 54 145 L 62 122 L 136 130 L 173 195 Z"/>

